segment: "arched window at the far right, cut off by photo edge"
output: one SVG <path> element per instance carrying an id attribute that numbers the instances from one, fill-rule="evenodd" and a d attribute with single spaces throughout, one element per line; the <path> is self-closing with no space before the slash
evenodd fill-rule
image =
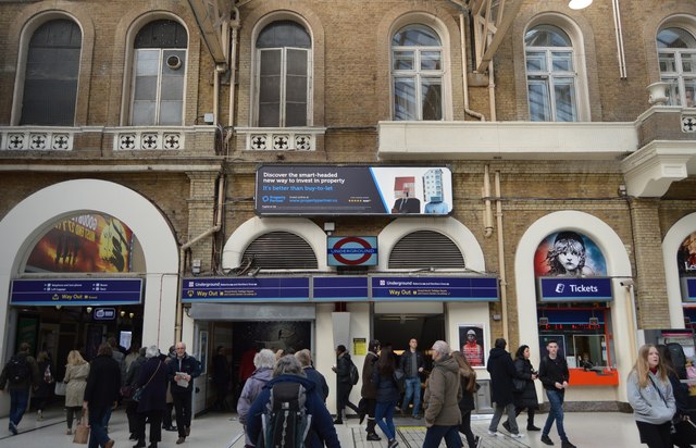
<path id="1" fill-rule="evenodd" d="M 696 38 L 683 28 L 664 28 L 657 35 L 662 80 L 670 84 L 669 103 L 693 108 L 696 95 Z"/>

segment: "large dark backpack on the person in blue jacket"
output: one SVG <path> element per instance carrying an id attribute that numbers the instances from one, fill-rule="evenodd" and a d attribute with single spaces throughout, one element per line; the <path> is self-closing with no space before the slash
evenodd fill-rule
<path id="1" fill-rule="evenodd" d="M 261 435 L 257 447 L 309 447 L 312 415 L 304 407 L 307 393 L 299 383 L 282 382 L 271 388 L 271 399 L 261 415 Z"/>

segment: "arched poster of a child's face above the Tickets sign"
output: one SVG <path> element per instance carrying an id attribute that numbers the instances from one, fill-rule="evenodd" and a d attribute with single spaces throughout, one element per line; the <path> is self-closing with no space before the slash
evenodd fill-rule
<path id="1" fill-rule="evenodd" d="M 576 232 L 563 231 L 547 236 L 534 253 L 537 277 L 606 276 L 607 262 L 595 242 Z"/>

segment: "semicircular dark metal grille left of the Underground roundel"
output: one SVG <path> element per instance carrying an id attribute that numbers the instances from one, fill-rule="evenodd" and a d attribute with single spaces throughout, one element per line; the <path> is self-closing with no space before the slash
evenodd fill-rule
<path id="1" fill-rule="evenodd" d="M 253 257 L 251 265 L 260 269 L 318 269 L 311 246 L 289 232 L 270 232 L 258 237 L 241 259 L 249 257 Z"/>

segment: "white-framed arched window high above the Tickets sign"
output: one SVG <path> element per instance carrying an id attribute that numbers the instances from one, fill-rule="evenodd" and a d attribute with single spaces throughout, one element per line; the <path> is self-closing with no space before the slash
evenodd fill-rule
<path id="1" fill-rule="evenodd" d="M 577 121 L 577 69 L 573 43 L 554 25 L 538 25 L 524 35 L 530 120 Z"/>

